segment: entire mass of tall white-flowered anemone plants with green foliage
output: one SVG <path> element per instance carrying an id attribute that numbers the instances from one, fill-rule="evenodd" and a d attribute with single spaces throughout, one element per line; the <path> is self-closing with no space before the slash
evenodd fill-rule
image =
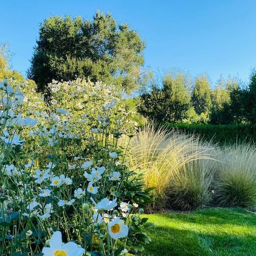
<path id="1" fill-rule="evenodd" d="M 53 81 L 45 104 L 28 86 L 0 83 L 0 255 L 143 250 L 151 196 L 126 164 L 136 124 L 122 95 Z"/>

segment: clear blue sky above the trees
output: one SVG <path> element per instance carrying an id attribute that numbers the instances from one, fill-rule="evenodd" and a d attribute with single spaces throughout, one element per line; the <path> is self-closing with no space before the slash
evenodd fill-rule
<path id="1" fill-rule="evenodd" d="M 207 72 L 214 83 L 221 74 L 245 80 L 256 65 L 254 0 L 1 0 L 0 6 L 0 43 L 9 43 L 12 67 L 22 73 L 43 19 L 92 18 L 96 10 L 111 12 L 139 32 L 146 41 L 145 65 L 154 71 Z"/>

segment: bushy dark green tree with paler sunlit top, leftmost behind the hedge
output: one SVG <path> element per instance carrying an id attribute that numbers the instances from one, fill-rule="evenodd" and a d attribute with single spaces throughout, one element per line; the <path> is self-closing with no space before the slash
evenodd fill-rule
<path id="1" fill-rule="evenodd" d="M 160 87 L 140 96 L 139 113 L 157 122 L 180 122 L 190 108 L 190 92 L 183 72 L 173 76 L 167 73 Z"/>

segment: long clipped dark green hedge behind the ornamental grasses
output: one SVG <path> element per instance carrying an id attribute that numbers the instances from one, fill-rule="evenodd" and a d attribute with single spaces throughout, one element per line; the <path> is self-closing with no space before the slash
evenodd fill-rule
<path id="1" fill-rule="evenodd" d="M 234 144 L 256 142 L 256 124 L 211 125 L 211 124 L 166 124 L 186 133 L 199 134 L 201 138 L 214 143 Z"/>

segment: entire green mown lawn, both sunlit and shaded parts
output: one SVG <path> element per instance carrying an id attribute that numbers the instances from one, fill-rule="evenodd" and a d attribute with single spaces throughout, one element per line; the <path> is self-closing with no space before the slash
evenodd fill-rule
<path id="1" fill-rule="evenodd" d="M 256 255 L 256 214 L 238 208 L 145 215 L 156 224 L 140 256 Z"/>

